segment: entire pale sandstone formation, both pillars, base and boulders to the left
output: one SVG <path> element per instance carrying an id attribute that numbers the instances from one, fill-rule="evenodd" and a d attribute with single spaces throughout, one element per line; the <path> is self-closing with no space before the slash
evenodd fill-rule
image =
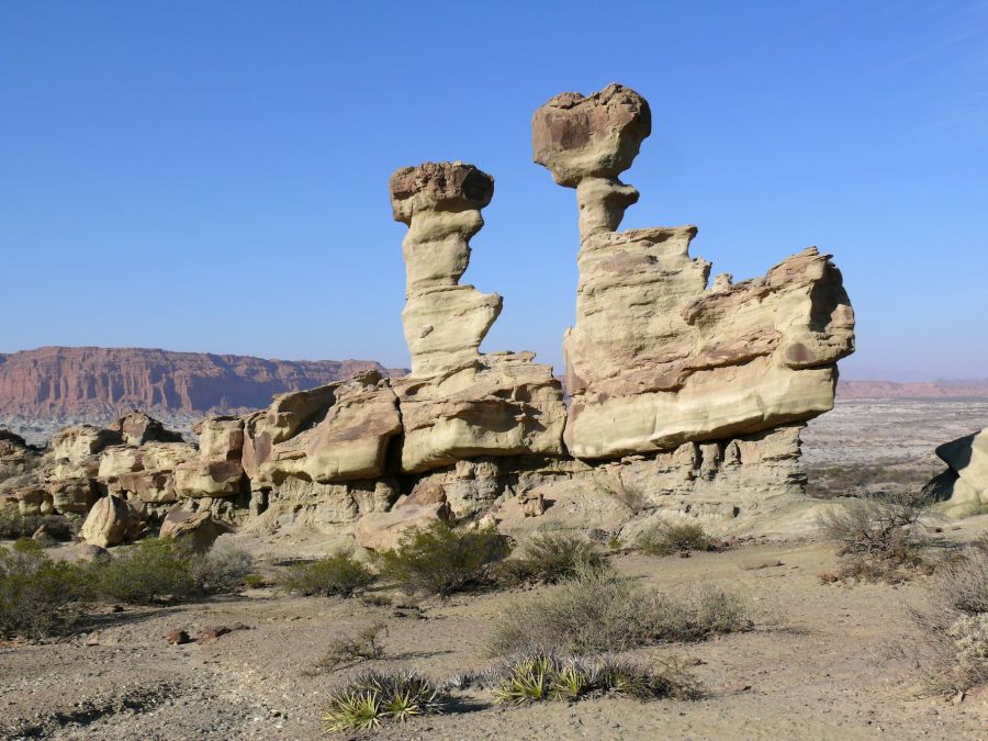
<path id="1" fill-rule="evenodd" d="M 721 534 L 806 523 L 799 434 L 831 407 L 837 360 L 854 346 L 841 274 L 809 248 L 763 278 L 711 283 L 710 265 L 689 256 L 696 227 L 617 232 L 638 200 L 619 176 L 650 132 L 648 103 L 621 86 L 558 96 L 534 120 L 536 160 L 576 189 L 580 207 L 569 409 L 532 353 L 481 351 L 502 299 L 459 281 L 493 178 L 426 162 L 390 181 L 394 218 L 408 227 L 411 373 L 367 369 L 276 395 L 260 412 L 207 417 L 198 444 L 142 412 L 106 429 L 69 427 L 46 452 L 0 437 L 0 505 L 89 513 L 83 534 L 101 546 L 157 525 L 202 547 L 243 526 L 312 528 L 383 550 L 437 519 L 627 542 L 658 518 Z M 126 393 L 83 373 L 58 397 L 75 398 L 80 384 L 114 402 L 171 393 L 159 374 L 128 368 Z M 0 391 L 2 378 L 0 364 Z M 193 386 L 181 386 L 180 404 L 194 407 Z M 963 487 L 979 469 L 961 458 L 948 460 L 951 483 L 970 498 Z"/>

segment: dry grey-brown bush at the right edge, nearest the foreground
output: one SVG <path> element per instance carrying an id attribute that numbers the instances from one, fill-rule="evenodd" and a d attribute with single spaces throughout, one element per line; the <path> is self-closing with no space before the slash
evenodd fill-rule
<path id="1" fill-rule="evenodd" d="M 988 552 L 972 546 L 938 569 L 929 600 L 910 614 L 920 638 L 899 648 L 930 689 L 988 683 Z"/>

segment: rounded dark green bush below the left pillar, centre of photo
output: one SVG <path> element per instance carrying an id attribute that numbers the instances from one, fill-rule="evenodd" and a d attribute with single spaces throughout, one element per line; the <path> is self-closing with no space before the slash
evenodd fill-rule
<path id="1" fill-rule="evenodd" d="M 398 547 L 381 554 L 381 575 L 405 593 L 449 595 L 483 580 L 490 564 L 510 552 L 494 528 L 459 530 L 437 520 L 402 536 Z"/>

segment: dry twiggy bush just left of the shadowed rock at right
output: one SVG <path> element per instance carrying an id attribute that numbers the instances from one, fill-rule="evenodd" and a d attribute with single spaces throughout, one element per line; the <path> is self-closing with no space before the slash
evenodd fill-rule
<path id="1" fill-rule="evenodd" d="M 900 493 L 844 503 L 820 518 L 823 534 L 839 546 L 838 580 L 897 584 L 932 573 L 923 558 L 927 535 L 920 523 L 929 498 Z"/>

